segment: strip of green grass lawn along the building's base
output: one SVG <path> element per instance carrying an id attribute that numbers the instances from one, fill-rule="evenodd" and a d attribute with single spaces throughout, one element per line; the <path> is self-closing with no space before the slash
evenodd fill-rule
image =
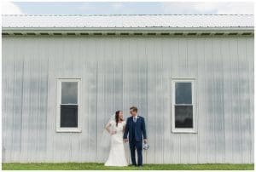
<path id="1" fill-rule="evenodd" d="M 55 169 L 73 169 L 73 170 L 200 170 L 200 169 L 246 169 L 253 170 L 254 164 L 232 164 L 232 163 L 203 163 L 203 164 L 143 164 L 143 168 L 128 166 L 128 167 L 105 167 L 103 163 L 2 163 L 3 170 L 19 170 L 19 169 L 40 169 L 40 170 L 55 170 Z"/>

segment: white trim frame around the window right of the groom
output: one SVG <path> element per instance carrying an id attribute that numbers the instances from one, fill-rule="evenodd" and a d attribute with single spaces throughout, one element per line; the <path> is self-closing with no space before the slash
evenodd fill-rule
<path id="1" fill-rule="evenodd" d="M 191 83 L 191 91 L 192 91 L 192 106 L 193 106 L 193 128 L 192 129 L 182 129 L 182 128 L 175 128 L 175 83 L 183 82 L 183 83 Z M 185 77 L 175 77 L 172 78 L 172 132 L 173 133 L 197 133 L 196 129 L 196 116 L 195 116 L 195 78 L 185 78 Z"/>

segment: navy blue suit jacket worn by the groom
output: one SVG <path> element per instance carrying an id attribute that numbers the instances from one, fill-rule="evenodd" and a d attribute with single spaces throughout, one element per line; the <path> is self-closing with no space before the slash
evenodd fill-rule
<path id="1" fill-rule="evenodd" d="M 129 133 L 129 141 L 131 141 L 133 133 L 132 133 L 132 125 L 135 124 L 135 139 L 137 141 L 143 141 L 143 139 L 147 139 L 146 134 L 146 125 L 145 120 L 141 116 L 137 116 L 136 123 L 133 122 L 133 117 L 127 118 L 125 125 L 125 133 L 124 139 L 127 139 L 127 135 Z"/>

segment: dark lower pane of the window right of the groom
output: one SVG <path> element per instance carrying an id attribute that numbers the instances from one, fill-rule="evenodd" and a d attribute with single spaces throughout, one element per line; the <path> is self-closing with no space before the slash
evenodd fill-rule
<path id="1" fill-rule="evenodd" d="M 193 128 L 193 106 L 175 106 L 175 128 Z"/>

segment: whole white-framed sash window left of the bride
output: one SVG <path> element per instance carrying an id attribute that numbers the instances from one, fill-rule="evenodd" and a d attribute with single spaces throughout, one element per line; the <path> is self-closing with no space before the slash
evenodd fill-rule
<path id="1" fill-rule="evenodd" d="M 80 132 L 80 79 L 58 79 L 57 132 Z"/>

